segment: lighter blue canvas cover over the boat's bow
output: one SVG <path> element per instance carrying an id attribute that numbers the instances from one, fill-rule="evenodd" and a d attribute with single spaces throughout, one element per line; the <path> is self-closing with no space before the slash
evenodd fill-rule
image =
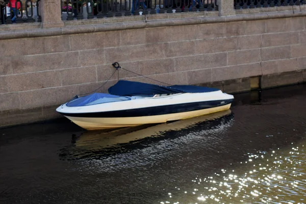
<path id="1" fill-rule="evenodd" d="M 122 100 L 131 100 L 131 98 L 118 96 L 118 95 L 111 95 L 107 93 L 93 93 L 87 96 L 71 100 L 66 104 L 66 106 L 68 107 L 90 106 L 90 105 L 104 104 L 104 103 L 116 102 Z"/>

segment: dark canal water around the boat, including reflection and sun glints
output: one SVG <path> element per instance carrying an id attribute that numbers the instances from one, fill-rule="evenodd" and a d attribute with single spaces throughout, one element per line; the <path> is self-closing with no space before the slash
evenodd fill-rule
<path id="1" fill-rule="evenodd" d="M 298 85 L 165 124 L 0 129 L 0 203 L 306 203 L 305 99 Z"/>

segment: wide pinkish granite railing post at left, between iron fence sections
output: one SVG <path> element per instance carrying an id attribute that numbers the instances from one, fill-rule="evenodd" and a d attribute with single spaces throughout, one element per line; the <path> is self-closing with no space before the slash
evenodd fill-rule
<path id="1" fill-rule="evenodd" d="M 64 22 L 61 16 L 61 1 L 42 0 L 39 2 L 42 28 L 61 28 Z"/>

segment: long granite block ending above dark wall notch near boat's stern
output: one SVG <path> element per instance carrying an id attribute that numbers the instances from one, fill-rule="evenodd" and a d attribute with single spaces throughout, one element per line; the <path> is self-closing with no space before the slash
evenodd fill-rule
<path id="1" fill-rule="evenodd" d="M 262 74 L 260 63 L 212 69 L 212 81 L 225 81 L 254 77 Z"/>

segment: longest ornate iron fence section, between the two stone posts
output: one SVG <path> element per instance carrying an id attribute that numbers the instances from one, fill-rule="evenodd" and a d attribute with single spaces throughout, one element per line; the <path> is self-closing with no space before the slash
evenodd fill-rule
<path id="1" fill-rule="evenodd" d="M 218 10 L 216 0 L 62 0 L 62 20 Z"/>

